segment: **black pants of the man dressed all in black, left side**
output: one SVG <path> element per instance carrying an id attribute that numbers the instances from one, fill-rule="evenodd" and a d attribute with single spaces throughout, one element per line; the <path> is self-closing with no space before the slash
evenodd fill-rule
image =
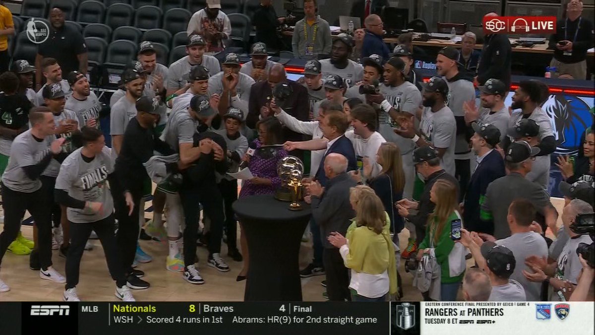
<path id="1" fill-rule="evenodd" d="M 114 198 L 115 218 L 118 219 L 118 234 L 116 236 L 118 255 L 120 256 L 121 264 L 126 274 L 129 274 L 132 269 L 134 255 L 136 255 L 136 244 L 139 238 L 139 207 L 140 198 L 143 196 L 142 185 L 139 186 L 134 190 L 130 190 L 132 200 L 134 201 L 134 209 L 132 210 L 132 214 L 128 215 L 129 208 L 126 206 L 124 190 L 120 183 L 113 182 L 109 184 L 112 198 Z M 96 233 L 99 236 L 99 232 Z"/>

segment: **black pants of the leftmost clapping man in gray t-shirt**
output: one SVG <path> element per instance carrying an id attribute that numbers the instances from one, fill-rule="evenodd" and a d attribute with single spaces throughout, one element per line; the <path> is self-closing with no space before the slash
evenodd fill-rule
<path id="1" fill-rule="evenodd" d="M 51 203 L 43 190 L 32 193 L 13 191 L 0 183 L 2 187 L 2 208 L 4 209 L 4 230 L 0 234 L 0 262 L 8 246 L 17 238 L 21 230 L 21 219 L 28 210 L 37 226 L 37 252 L 42 269 L 52 266 L 52 224 L 50 222 Z"/>

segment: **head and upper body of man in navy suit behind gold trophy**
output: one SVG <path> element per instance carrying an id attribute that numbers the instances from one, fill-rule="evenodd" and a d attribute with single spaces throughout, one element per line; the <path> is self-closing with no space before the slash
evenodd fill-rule
<path id="1" fill-rule="evenodd" d="M 345 156 L 347 159 L 347 171 L 357 169 L 357 160 L 352 142 L 349 138 L 345 137 L 345 132 L 349 128 L 349 121 L 347 121 L 347 115 L 345 113 L 338 110 L 329 110 L 324 114 L 318 126 L 324 138 L 328 139 L 327 151 L 324 153 L 315 175 L 317 181 L 324 187 L 328 181 L 324 173 L 324 160 L 328 154 L 337 153 Z"/>

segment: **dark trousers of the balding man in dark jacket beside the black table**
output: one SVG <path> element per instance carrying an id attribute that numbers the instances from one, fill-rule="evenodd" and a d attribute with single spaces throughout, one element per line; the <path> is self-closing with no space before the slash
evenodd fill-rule
<path id="1" fill-rule="evenodd" d="M 339 249 L 324 249 L 322 263 L 327 275 L 327 294 L 330 301 L 351 300 L 349 272 L 343 263 Z"/>

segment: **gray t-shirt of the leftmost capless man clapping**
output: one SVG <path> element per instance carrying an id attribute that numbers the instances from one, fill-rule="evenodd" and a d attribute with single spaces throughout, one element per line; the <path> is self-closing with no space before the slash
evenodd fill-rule
<path id="1" fill-rule="evenodd" d="M 30 179 L 23 168 L 36 165 L 49 154 L 49 147 L 56 137 L 54 135 L 37 141 L 31 134 L 31 129 L 18 135 L 12 141 L 8 166 L 2 175 L 2 184 L 12 191 L 33 193 L 41 188 L 39 179 Z"/>

